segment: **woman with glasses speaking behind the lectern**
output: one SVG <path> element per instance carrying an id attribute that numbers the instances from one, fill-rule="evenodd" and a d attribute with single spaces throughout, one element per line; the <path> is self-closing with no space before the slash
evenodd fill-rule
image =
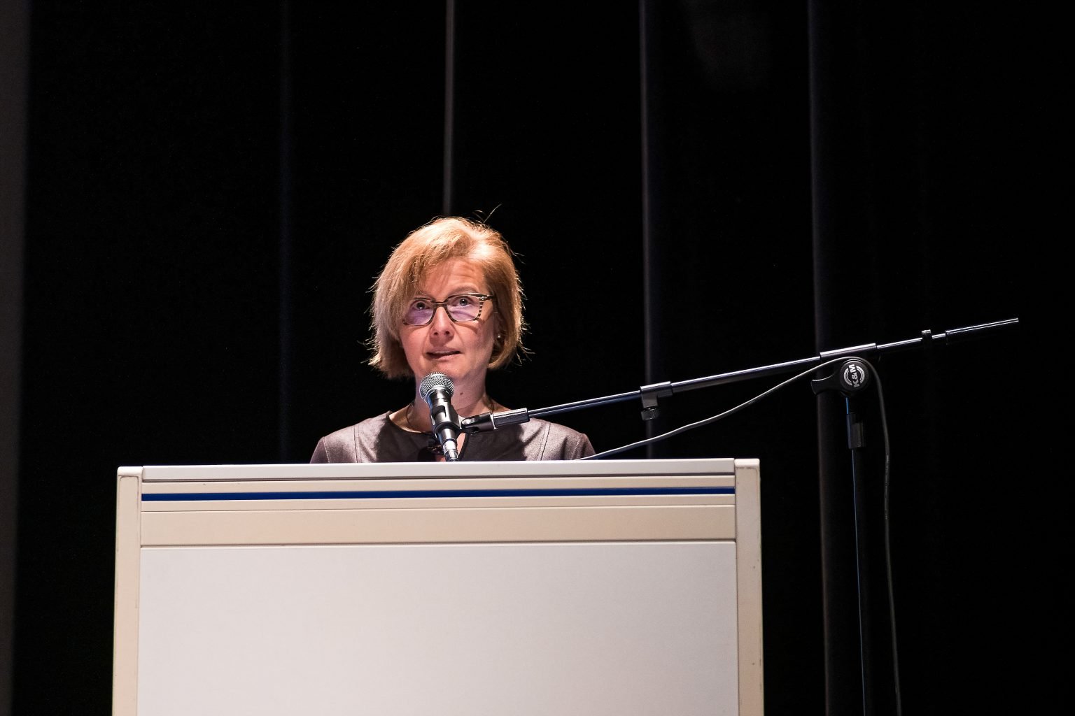
<path id="1" fill-rule="evenodd" d="M 325 436 L 311 463 L 443 461 L 421 380 L 444 374 L 460 417 L 506 410 L 485 390 L 490 368 L 522 350 L 522 289 L 499 232 L 458 217 L 417 229 L 392 251 L 374 284 L 370 365 L 412 378 L 407 405 Z M 582 433 L 544 420 L 461 434 L 461 461 L 574 459 L 593 454 Z"/>

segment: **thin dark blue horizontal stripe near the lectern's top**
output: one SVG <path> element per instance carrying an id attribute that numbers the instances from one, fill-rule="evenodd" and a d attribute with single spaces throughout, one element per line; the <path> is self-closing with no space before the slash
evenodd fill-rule
<path id="1" fill-rule="evenodd" d="M 143 502 L 194 500 L 320 500 L 416 497 L 587 497 L 604 495 L 734 495 L 734 487 L 561 487 L 554 489 L 368 489 L 309 493 L 157 493 Z"/>

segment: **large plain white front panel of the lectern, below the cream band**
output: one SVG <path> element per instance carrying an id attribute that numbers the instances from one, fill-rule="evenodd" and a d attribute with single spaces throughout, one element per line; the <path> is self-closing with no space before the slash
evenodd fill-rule
<path id="1" fill-rule="evenodd" d="M 153 549 L 142 597 L 147 716 L 737 708 L 730 542 Z"/>

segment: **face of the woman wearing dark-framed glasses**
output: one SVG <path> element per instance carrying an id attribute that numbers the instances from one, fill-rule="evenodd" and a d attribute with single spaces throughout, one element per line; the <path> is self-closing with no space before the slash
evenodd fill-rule
<path id="1" fill-rule="evenodd" d="M 489 293 L 489 286 L 476 264 L 453 259 L 418 281 L 411 297 L 444 301 L 460 293 Z M 482 399 L 499 322 L 493 302 L 486 301 L 476 321 L 456 323 L 443 306 L 438 306 L 427 325 L 402 325 L 400 341 L 415 380 L 443 372 L 455 388 L 454 403 L 469 405 Z"/>

